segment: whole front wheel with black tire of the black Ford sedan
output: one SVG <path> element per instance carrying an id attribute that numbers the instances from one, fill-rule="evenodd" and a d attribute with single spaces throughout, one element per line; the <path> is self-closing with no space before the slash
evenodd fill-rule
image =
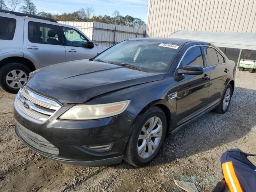
<path id="1" fill-rule="evenodd" d="M 153 127 L 152 132 L 150 134 L 147 134 L 150 130 L 150 122 L 149 120 L 152 120 L 150 122 L 156 122 L 156 125 Z M 135 120 L 136 123 L 134 125 L 134 129 L 132 131 L 132 134 L 128 140 L 128 143 L 126 145 L 126 151 L 124 153 L 124 160 L 128 162 L 129 164 L 132 164 L 136 167 L 146 166 L 148 163 L 150 163 L 158 154 L 165 136 L 166 136 L 166 116 L 162 109 L 153 106 L 152 108 L 146 110 L 144 114 L 142 114 L 141 117 L 138 117 L 138 119 Z M 160 130 L 160 125 L 162 123 L 162 135 L 160 136 L 160 132 L 157 130 Z M 145 127 L 145 129 L 143 129 Z M 144 132 L 143 132 L 144 130 Z M 147 135 L 145 134 L 145 131 L 147 131 Z M 155 133 L 154 133 L 155 132 Z M 143 134 L 142 134 L 143 133 Z M 152 136 L 152 134 L 157 135 L 157 137 Z M 139 136 L 145 136 L 143 139 L 139 139 Z M 152 136 L 152 137 L 151 137 Z M 147 139 L 147 141 L 146 141 Z M 146 142 L 145 145 L 143 143 Z M 152 142 L 154 145 L 152 145 Z M 139 154 L 138 147 L 145 146 L 144 150 Z M 150 154 L 149 147 L 152 149 L 152 154 Z M 143 153 L 144 151 L 144 153 Z"/>

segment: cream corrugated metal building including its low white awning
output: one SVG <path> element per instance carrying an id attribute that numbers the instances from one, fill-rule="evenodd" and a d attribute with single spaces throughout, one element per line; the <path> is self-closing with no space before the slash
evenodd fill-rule
<path id="1" fill-rule="evenodd" d="M 148 0 L 146 23 L 147 37 L 211 42 L 235 62 L 256 59 L 256 0 Z"/>

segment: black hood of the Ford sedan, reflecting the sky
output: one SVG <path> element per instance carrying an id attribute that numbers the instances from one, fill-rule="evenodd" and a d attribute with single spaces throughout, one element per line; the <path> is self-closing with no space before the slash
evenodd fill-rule
<path id="1" fill-rule="evenodd" d="M 107 92 L 162 80 L 164 76 L 165 73 L 142 72 L 115 64 L 78 60 L 32 72 L 27 86 L 61 103 L 83 103 Z"/>

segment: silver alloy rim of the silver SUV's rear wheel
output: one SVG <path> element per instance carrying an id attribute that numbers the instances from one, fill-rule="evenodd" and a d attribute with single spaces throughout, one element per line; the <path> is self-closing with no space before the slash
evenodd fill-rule
<path id="1" fill-rule="evenodd" d="M 27 74 L 22 70 L 12 70 L 6 76 L 6 83 L 11 88 L 19 89 L 28 81 Z"/>

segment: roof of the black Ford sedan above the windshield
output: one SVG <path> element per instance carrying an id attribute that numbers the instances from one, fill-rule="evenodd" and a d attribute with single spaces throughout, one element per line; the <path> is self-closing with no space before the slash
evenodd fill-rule
<path id="1" fill-rule="evenodd" d="M 176 39 L 176 38 L 134 38 L 129 39 L 130 41 L 152 41 L 152 42 L 161 42 L 161 43 L 172 43 L 176 45 L 184 45 L 186 43 L 192 42 L 193 44 L 209 44 L 202 41 L 194 41 L 188 39 Z"/>

